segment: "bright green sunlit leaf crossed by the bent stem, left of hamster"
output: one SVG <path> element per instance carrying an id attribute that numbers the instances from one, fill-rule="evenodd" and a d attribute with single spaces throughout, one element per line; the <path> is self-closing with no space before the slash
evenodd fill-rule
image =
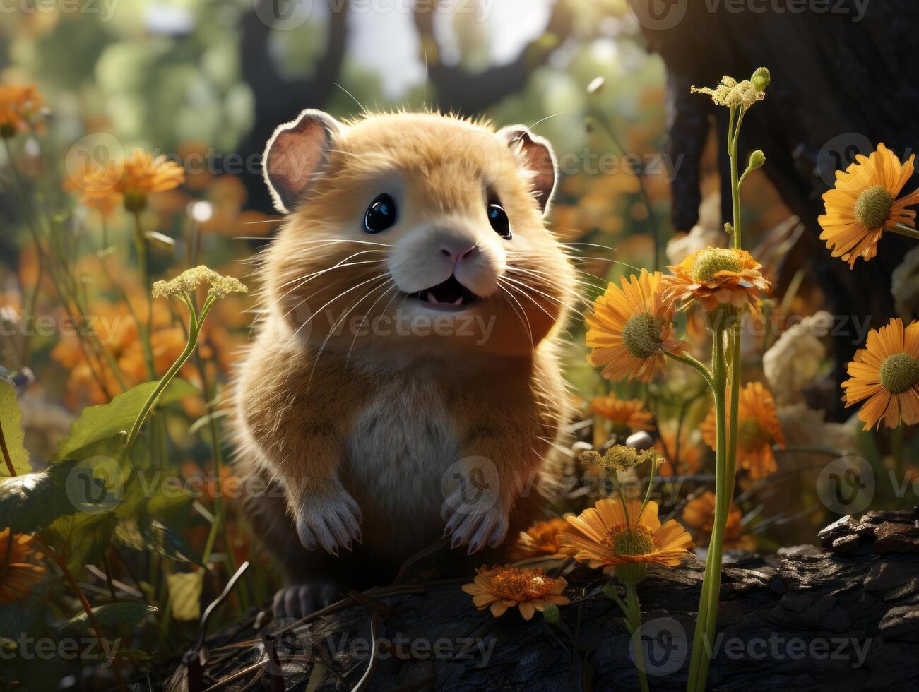
<path id="1" fill-rule="evenodd" d="M 70 435 L 58 444 L 55 460 L 85 459 L 97 453 L 93 448 L 98 442 L 111 437 L 120 437 L 122 432 L 130 430 L 134 420 L 141 413 L 143 404 L 156 389 L 157 382 L 144 382 L 119 394 L 110 403 L 100 406 L 87 406 L 80 417 L 70 427 Z M 185 380 L 172 380 L 166 387 L 158 406 L 174 403 L 190 394 L 199 391 Z"/>

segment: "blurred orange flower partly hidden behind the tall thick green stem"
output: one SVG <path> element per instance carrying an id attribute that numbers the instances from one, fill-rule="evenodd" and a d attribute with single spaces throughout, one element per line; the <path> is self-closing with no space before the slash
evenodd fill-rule
<path id="1" fill-rule="evenodd" d="M 730 388 L 726 394 L 731 401 Z M 731 410 L 728 406 L 728 425 L 731 425 Z M 750 471 L 754 480 L 766 478 L 776 471 L 776 455 L 773 445 L 785 447 L 785 437 L 778 425 L 776 402 L 762 382 L 749 382 L 741 391 L 740 420 L 737 423 L 737 463 L 741 468 Z M 699 426 L 702 439 L 710 448 L 718 444 L 715 427 L 715 410 L 709 411 L 708 417 Z"/>

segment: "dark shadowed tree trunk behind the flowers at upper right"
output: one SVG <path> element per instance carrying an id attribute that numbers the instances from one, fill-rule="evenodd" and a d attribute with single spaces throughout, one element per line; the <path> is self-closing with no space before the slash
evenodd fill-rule
<path id="1" fill-rule="evenodd" d="M 919 4 L 833 0 L 802 7 L 770 0 L 743 3 L 737 11 L 737 4 L 727 0 L 630 1 L 639 17 L 649 17 L 651 3 L 658 9 L 642 23 L 649 49 L 666 63 L 670 146 L 674 155 L 686 156 L 673 185 L 675 228 L 688 230 L 698 220 L 698 163 L 712 117 L 722 172 L 727 165 L 722 145 L 727 109 L 691 95 L 689 87 L 715 85 L 722 74 L 743 79 L 766 66 L 772 85 L 766 100 L 744 120 L 741 150 L 744 160 L 751 150 L 766 152 L 766 175 L 807 228 L 789 258 L 791 268 L 809 267 L 835 315 L 869 316 L 873 327 L 886 323 L 894 314 L 891 272 L 914 242 L 888 234 L 875 259 L 859 260 L 850 271 L 820 240 L 817 218 L 834 170 L 845 168 L 855 153 L 870 153 L 884 142 L 904 157 L 919 146 L 919 82 L 913 69 Z M 757 7 L 766 11 L 753 11 Z M 726 220 L 729 183 L 722 175 Z M 837 380 L 843 379 L 845 362 L 855 351 L 853 341 L 854 334 L 835 341 Z"/>

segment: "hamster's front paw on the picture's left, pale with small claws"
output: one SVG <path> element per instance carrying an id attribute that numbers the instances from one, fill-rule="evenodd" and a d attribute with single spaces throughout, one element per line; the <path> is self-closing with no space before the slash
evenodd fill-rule
<path id="1" fill-rule="evenodd" d="M 351 541 L 360 542 L 360 507 L 344 490 L 305 498 L 297 509 L 297 534 L 308 550 L 322 546 L 338 555 L 338 548 L 351 550 Z"/>

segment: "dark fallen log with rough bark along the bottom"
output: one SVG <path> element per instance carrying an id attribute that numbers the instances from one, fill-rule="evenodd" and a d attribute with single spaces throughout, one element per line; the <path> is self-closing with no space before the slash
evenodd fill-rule
<path id="1" fill-rule="evenodd" d="M 729 552 L 709 689 L 913 689 L 917 519 L 919 509 L 844 517 L 821 532 L 823 552 L 803 546 L 766 560 Z M 360 689 L 373 690 L 637 689 L 629 635 L 597 574 L 569 576 L 566 594 L 582 602 L 562 607 L 557 627 L 539 614 L 529 622 L 516 612 L 495 620 L 477 611 L 455 580 L 409 583 L 401 595 L 358 594 L 308 623 L 272 624 L 262 614 L 208 641 L 203 675 L 192 685 L 179 666 L 165 688 L 240 690 L 261 674 L 256 689 L 357 689 L 361 679 Z M 654 690 L 685 689 L 701 577 L 697 561 L 652 569 L 638 587 Z M 273 667 L 264 635 L 282 629 L 267 640 L 278 654 Z M 460 640 L 482 643 L 473 643 L 469 655 L 432 657 L 436 642 L 440 652 L 456 653 Z M 277 683 L 273 672 L 280 674 Z"/>

